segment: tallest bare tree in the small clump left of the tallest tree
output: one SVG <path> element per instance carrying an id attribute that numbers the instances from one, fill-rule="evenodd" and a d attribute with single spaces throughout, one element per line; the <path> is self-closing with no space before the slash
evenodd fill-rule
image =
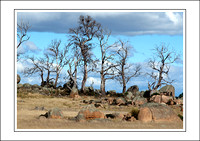
<path id="1" fill-rule="evenodd" d="M 67 65 L 68 60 L 66 59 L 66 54 L 68 52 L 68 47 L 66 47 L 64 50 L 60 48 L 61 40 L 52 40 L 51 44 L 48 47 L 48 50 L 50 51 L 50 54 L 53 57 L 53 60 L 55 61 L 55 72 L 56 72 L 56 78 L 54 83 L 54 88 L 56 88 L 58 83 L 59 75 L 64 68 L 65 65 Z"/>

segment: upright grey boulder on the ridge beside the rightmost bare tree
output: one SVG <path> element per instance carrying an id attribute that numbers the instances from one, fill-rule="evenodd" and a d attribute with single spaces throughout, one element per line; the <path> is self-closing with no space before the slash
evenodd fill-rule
<path id="1" fill-rule="evenodd" d="M 160 94 L 166 95 L 166 96 L 172 96 L 173 99 L 175 98 L 175 88 L 172 85 L 166 85 L 162 88 L 160 88 Z"/>

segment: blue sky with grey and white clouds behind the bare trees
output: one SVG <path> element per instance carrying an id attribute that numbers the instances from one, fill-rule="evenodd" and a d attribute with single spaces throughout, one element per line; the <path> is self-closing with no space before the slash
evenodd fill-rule
<path id="1" fill-rule="evenodd" d="M 154 54 L 156 46 L 165 43 L 170 50 L 179 54 L 179 60 L 170 67 L 169 77 L 175 81 L 172 85 L 175 87 L 175 94 L 178 96 L 183 92 L 183 13 L 182 12 L 17 12 L 17 22 L 23 19 L 31 25 L 28 35 L 30 39 L 24 42 L 17 50 L 18 53 L 24 53 L 26 56 L 41 57 L 43 52 L 51 43 L 51 40 L 61 40 L 61 47 L 68 43 L 69 28 L 78 26 L 80 15 L 90 15 L 94 20 L 111 31 L 109 44 L 121 39 L 128 41 L 133 47 L 130 51 L 129 63 L 140 64 L 142 72 L 150 72 L 147 62 Z M 100 49 L 97 40 L 93 40 L 93 54 L 100 58 Z M 39 75 L 35 74 L 29 77 L 23 75 L 23 70 L 30 66 L 30 61 L 20 59 L 17 62 L 17 73 L 22 77 L 21 83 L 40 84 Z M 59 84 L 66 82 L 63 77 L 66 75 L 67 68 L 61 72 Z M 83 74 L 78 73 L 78 83 L 81 86 Z M 127 88 L 132 85 L 138 85 L 140 90 L 148 89 L 148 78 L 145 75 L 132 78 Z M 94 83 L 93 83 L 94 82 Z M 100 88 L 100 75 L 98 73 L 89 73 L 86 86 Z M 106 81 L 106 90 L 122 91 L 120 83 L 116 80 Z"/>

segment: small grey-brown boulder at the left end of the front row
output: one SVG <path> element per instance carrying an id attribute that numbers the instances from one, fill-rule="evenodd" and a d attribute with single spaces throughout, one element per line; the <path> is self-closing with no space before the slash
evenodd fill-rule
<path id="1" fill-rule="evenodd" d="M 59 108 L 53 108 L 46 112 L 46 114 L 41 114 L 39 117 L 41 116 L 52 119 L 61 119 L 63 118 L 63 112 Z"/>

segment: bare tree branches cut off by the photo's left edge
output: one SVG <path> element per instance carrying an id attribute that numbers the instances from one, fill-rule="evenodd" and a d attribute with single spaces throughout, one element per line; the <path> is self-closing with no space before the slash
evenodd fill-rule
<path id="1" fill-rule="evenodd" d="M 27 35 L 28 30 L 30 29 L 29 23 L 24 23 L 23 20 L 20 20 L 20 23 L 17 24 L 17 38 L 18 38 L 18 44 L 17 48 L 20 47 L 20 45 L 28 41 L 30 39 L 30 36 Z"/>

